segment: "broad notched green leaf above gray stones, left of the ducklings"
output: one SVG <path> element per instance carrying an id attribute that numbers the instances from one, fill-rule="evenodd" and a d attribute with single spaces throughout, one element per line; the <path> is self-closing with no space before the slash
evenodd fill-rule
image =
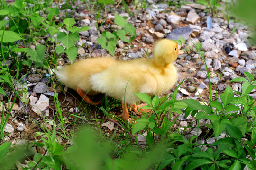
<path id="1" fill-rule="evenodd" d="M 27 55 L 31 56 L 29 59 L 37 62 L 43 62 L 45 52 L 46 52 L 46 46 L 42 44 L 37 44 L 37 47 L 35 50 L 32 50 L 30 48 L 27 49 Z"/>

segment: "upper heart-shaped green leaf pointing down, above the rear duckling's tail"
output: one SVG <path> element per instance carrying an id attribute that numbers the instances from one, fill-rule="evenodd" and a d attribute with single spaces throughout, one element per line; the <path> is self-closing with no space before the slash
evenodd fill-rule
<path id="1" fill-rule="evenodd" d="M 75 42 L 79 40 L 79 34 L 78 33 L 66 34 L 65 32 L 61 32 L 58 34 L 57 39 L 60 40 L 68 50 L 75 44 Z"/>

